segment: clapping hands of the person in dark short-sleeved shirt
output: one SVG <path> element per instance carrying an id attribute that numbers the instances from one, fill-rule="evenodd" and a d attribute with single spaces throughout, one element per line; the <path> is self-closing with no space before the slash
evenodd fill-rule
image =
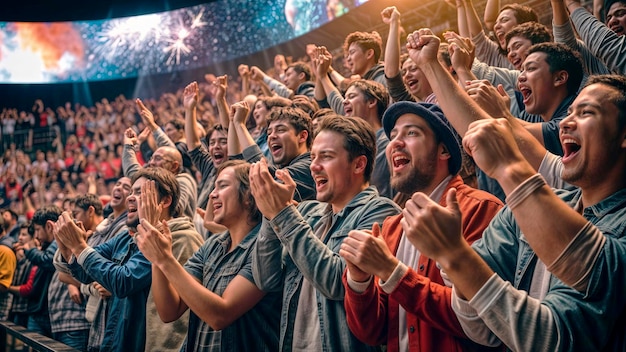
<path id="1" fill-rule="evenodd" d="M 157 266 L 174 258 L 172 255 L 172 234 L 165 220 L 161 222 L 161 227 L 163 232 L 143 219 L 137 226 L 137 233 L 135 234 L 135 242 L 141 253 Z"/>

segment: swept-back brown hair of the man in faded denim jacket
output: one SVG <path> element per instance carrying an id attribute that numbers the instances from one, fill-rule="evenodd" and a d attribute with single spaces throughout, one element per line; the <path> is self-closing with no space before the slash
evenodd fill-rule
<path id="1" fill-rule="evenodd" d="M 332 131 L 344 137 L 343 147 L 348 152 L 350 161 L 364 155 L 367 159 L 363 177 L 370 180 L 376 158 L 376 133 L 372 127 L 359 117 L 327 115 L 320 120 L 317 133 Z"/>

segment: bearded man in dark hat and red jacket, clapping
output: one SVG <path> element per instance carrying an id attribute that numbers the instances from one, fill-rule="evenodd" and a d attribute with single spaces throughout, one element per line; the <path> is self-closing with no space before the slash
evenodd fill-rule
<path id="1" fill-rule="evenodd" d="M 428 194 L 442 206 L 455 188 L 463 236 L 469 243 L 479 239 L 502 203 L 463 184 L 460 138 L 439 106 L 395 103 L 383 116 L 383 128 L 392 187 Z M 400 214 L 388 217 L 382 230 L 375 224 L 372 232 L 354 230 L 344 240 L 340 255 L 348 268 L 343 282 L 350 330 L 368 344 L 386 344 L 389 351 L 480 350 L 451 310 L 451 288 L 435 261 L 420 255 L 405 235 L 412 226 Z"/>

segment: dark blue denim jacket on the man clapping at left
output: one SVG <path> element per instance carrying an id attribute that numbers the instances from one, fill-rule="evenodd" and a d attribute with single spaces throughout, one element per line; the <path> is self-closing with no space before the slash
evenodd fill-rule
<path id="1" fill-rule="evenodd" d="M 112 294 L 100 350 L 143 351 L 152 264 L 139 251 L 128 230 L 85 249 L 69 268 L 82 283 L 96 281 Z"/>

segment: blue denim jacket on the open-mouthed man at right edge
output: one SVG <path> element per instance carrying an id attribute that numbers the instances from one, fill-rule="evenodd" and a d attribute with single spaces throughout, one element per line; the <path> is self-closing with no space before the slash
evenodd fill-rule
<path id="1" fill-rule="evenodd" d="M 578 189 L 557 192 L 573 208 L 581 198 Z M 626 347 L 622 318 L 626 305 L 626 189 L 583 209 L 583 216 L 607 238 L 586 292 L 553 276 L 541 301 L 504 285 L 500 285 L 501 291 L 507 291 L 504 294 L 490 292 L 472 300 L 482 321 L 492 331 L 500 330 L 498 336 L 508 346 L 533 351 L 623 351 Z M 529 290 L 538 258 L 508 208 L 494 218 L 473 247 L 503 280 L 516 289 Z"/>

